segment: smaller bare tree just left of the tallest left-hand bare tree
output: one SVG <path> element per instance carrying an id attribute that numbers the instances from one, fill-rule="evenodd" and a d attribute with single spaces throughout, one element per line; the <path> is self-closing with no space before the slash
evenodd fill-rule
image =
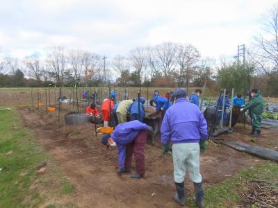
<path id="1" fill-rule="evenodd" d="M 35 78 L 37 85 L 40 83 L 42 71 L 40 69 L 40 58 L 37 53 L 24 58 L 23 63 L 28 69 L 28 74 L 31 78 Z"/>

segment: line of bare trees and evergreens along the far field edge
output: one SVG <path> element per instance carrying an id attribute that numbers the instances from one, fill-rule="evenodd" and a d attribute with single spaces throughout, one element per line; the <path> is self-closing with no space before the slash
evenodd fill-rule
<path id="1" fill-rule="evenodd" d="M 240 58 L 203 58 L 192 44 L 164 42 L 112 58 L 51 46 L 23 60 L 0 51 L 0 87 L 99 86 L 260 88 L 278 95 L 278 6 L 265 13 L 259 35 Z M 235 46 L 236 48 L 236 46 Z"/>

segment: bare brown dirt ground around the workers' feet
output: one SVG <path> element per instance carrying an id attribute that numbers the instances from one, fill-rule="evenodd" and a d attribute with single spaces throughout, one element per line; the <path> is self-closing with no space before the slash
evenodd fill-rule
<path id="1" fill-rule="evenodd" d="M 145 148 L 146 174 L 134 180 L 130 175 L 117 176 L 117 150 L 103 146 L 101 135 L 95 137 L 95 126 L 83 123 L 66 126 L 55 123 L 54 115 L 38 114 L 27 107 L 19 110 L 24 125 L 35 133 L 62 168 L 63 173 L 76 188 L 72 201 L 79 207 L 179 207 L 173 199 L 174 182 L 172 157 L 151 144 Z M 249 130 L 240 126 L 232 135 L 222 135 L 225 140 L 249 144 Z M 275 148 L 278 141 L 272 135 L 277 130 L 263 130 L 263 137 L 256 144 Z M 277 136 L 276 136 L 277 137 Z M 252 143 L 254 144 L 254 143 Z M 221 182 L 241 168 L 256 166 L 263 160 L 209 142 L 206 153 L 201 155 L 201 173 L 204 186 Z M 133 169 L 134 171 L 134 164 Z M 187 194 L 193 184 L 186 179 Z"/>

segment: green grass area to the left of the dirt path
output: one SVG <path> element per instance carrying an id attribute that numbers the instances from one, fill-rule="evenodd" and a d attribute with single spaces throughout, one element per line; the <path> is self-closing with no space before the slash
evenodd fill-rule
<path id="1" fill-rule="evenodd" d="M 15 108 L 0 111 L 0 132 L 0 207 L 72 205 L 63 198 L 74 194 L 73 185 L 22 126 Z M 38 169 L 45 165 L 45 173 L 39 175 Z"/>

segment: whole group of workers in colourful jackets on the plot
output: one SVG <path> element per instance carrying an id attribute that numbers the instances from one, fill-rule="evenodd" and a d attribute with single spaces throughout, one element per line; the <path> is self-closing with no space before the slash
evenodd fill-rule
<path id="1" fill-rule="evenodd" d="M 168 146 L 172 142 L 172 159 L 174 165 L 174 183 L 176 193 L 174 200 L 181 206 L 186 205 L 186 191 L 184 180 L 186 171 L 190 180 L 194 183 L 195 202 L 198 207 L 204 207 L 204 189 L 202 187 L 202 175 L 199 171 L 199 155 L 202 145 L 208 139 L 206 119 L 199 110 L 199 96 L 202 89 L 196 89 L 188 98 L 186 89 L 177 89 L 160 96 L 155 91 L 150 105 L 156 107 L 157 111 L 163 112 L 161 123 L 161 143 Z M 229 93 L 222 94 L 218 100 L 218 106 L 224 110 L 229 107 Z M 252 110 L 252 134 L 261 133 L 261 113 L 263 112 L 263 98 L 259 90 L 251 90 L 252 99 L 245 105 L 243 97 L 238 94 L 233 98 L 234 106 L 240 107 L 240 112 Z M 223 101 L 224 100 L 224 101 Z M 172 102 L 173 101 L 173 102 Z M 147 132 L 153 132 L 152 126 L 143 123 L 145 116 L 145 98 L 140 97 L 133 100 L 124 100 L 114 105 L 112 99 L 106 99 L 101 105 L 101 113 L 104 118 L 104 126 L 108 125 L 110 111 L 116 118 L 115 130 L 102 137 L 101 143 L 107 147 L 117 147 L 118 169 L 117 174 L 131 173 L 132 155 L 136 161 L 136 172 L 132 178 L 142 178 L 145 175 L 145 144 Z M 174 104 L 173 104 L 174 103 Z M 95 105 L 90 106 L 96 109 Z M 220 110 L 220 109 L 219 109 Z M 222 108 L 221 108 L 222 110 Z M 88 113 L 98 114 L 97 110 Z M 127 114 L 130 120 L 127 121 Z M 227 116 L 226 120 L 227 120 Z"/>

